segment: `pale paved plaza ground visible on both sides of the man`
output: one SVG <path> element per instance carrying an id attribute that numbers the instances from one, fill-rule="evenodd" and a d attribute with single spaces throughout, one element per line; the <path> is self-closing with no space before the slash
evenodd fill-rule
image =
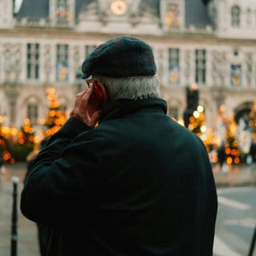
<path id="1" fill-rule="evenodd" d="M 0 172 L 0 255 L 10 256 L 11 212 L 13 202 L 12 177 L 20 180 L 18 186 L 18 202 L 22 190 L 22 182 L 26 172 L 26 164 L 6 166 Z M 256 167 L 239 166 L 220 171 L 214 168 L 214 178 L 217 186 L 256 185 Z M 18 206 L 18 256 L 39 256 L 37 229 L 19 211 Z M 226 255 L 228 256 L 228 255 Z"/>

